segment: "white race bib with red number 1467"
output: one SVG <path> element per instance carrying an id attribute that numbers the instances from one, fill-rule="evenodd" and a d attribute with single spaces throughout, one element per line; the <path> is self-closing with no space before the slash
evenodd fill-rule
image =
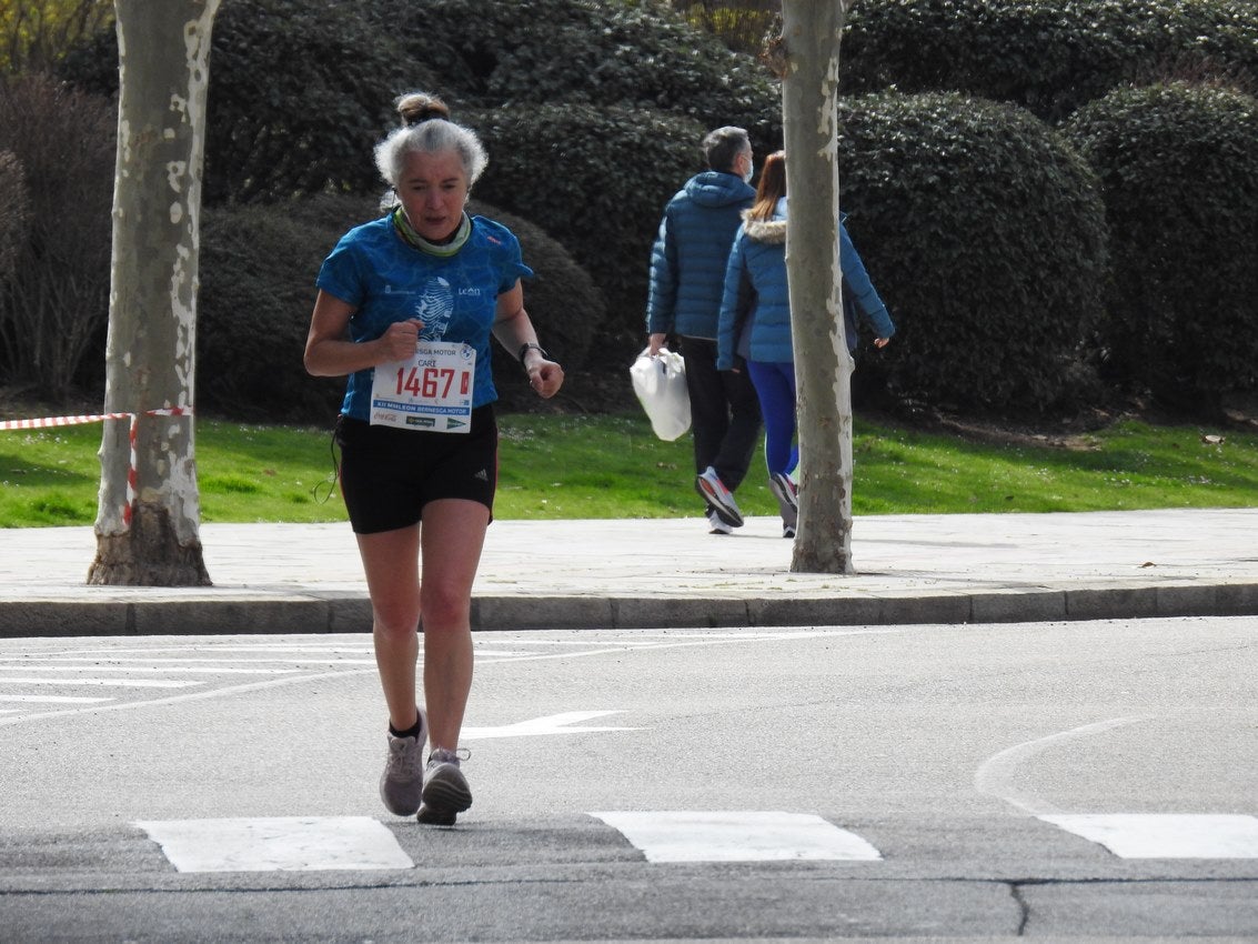
<path id="1" fill-rule="evenodd" d="M 371 383 L 371 424 L 465 433 L 472 427 L 476 347 L 420 341 L 410 360 L 377 364 Z"/>

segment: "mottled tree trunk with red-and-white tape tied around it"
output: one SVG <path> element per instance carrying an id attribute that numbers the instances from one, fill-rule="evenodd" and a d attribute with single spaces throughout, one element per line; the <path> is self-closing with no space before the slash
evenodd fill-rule
<path id="1" fill-rule="evenodd" d="M 192 380 L 210 29 L 219 0 L 116 0 L 121 91 L 107 413 L 89 584 L 208 585 Z"/>

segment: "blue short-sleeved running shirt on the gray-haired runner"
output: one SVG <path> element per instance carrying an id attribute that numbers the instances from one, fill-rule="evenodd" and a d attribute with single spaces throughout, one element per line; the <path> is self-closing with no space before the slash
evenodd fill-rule
<path id="1" fill-rule="evenodd" d="M 521 261 L 520 240 L 484 216 L 472 219 L 472 235 L 454 256 L 438 257 L 404 242 L 392 219 L 355 227 L 320 268 L 316 284 L 355 307 L 350 339 L 374 341 L 395 321 L 419 318 L 426 341 L 462 341 L 476 347 L 472 407 L 498 399 L 493 389 L 489 339 L 498 296 L 533 274 Z M 341 413 L 371 415 L 374 369 L 350 375 Z"/>

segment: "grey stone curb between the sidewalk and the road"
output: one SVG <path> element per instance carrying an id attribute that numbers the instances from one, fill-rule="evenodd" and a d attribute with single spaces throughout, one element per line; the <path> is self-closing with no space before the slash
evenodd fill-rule
<path id="1" fill-rule="evenodd" d="M 142 593 L 142 592 L 141 592 Z M 198 590 L 132 599 L 0 602 L 0 638 L 371 631 L 366 594 L 242 597 Z M 1019 623 L 1258 615 L 1258 583 L 920 592 L 897 597 L 473 597 L 478 631 Z"/>

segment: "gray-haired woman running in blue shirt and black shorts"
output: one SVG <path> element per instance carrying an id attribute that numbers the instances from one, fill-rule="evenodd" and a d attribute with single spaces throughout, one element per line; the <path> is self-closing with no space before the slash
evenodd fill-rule
<path id="1" fill-rule="evenodd" d="M 464 211 L 487 164 L 481 141 L 433 96 L 398 107 L 408 123 L 376 146 L 396 205 L 325 259 L 306 369 L 350 378 L 337 442 L 389 709 L 380 795 L 399 816 L 450 824 L 472 806 L 455 751 L 472 688 L 472 583 L 497 481 L 489 337 L 543 398 L 564 370 L 525 311 L 520 278 L 532 272 L 516 237 Z"/>

